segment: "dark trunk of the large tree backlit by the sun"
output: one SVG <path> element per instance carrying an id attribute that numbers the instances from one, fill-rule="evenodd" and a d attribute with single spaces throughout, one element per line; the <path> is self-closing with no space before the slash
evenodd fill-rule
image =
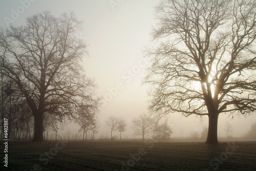
<path id="1" fill-rule="evenodd" d="M 208 135 L 206 139 L 206 144 L 217 144 L 218 143 L 218 137 L 217 137 L 217 131 L 218 131 L 218 113 L 209 113 L 209 127 L 208 127 Z"/>

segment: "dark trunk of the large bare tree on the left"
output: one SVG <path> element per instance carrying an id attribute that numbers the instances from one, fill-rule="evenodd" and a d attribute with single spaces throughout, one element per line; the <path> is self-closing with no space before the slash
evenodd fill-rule
<path id="1" fill-rule="evenodd" d="M 42 115 L 43 113 L 37 113 L 33 114 L 34 115 L 34 120 L 35 120 L 35 130 L 34 130 L 34 138 L 33 141 L 44 141 L 44 128 L 42 126 L 43 118 Z"/>

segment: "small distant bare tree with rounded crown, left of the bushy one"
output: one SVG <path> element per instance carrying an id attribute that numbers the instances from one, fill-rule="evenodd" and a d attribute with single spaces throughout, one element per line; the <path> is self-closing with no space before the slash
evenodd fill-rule
<path id="1" fill-rule="evenodd" d="M 142 139 L 144 140 L 144 135 L 153 131 L 155 126 L 155 121 L 150 116 L 145 113 L 140 114 L 139 118 L 134 118 L 133 121 L 133 130 L 134 135 L 142 135 Z"/>

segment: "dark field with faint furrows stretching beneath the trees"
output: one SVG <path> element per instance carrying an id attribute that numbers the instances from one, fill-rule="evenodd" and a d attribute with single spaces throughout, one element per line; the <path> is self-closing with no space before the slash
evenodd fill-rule
<path id="1" fill-rule="evenodd" d="M 256 142 L 9 142 L 8 168 L 3 161 L 1 167 L 31 171 L 256 170 Z"/>

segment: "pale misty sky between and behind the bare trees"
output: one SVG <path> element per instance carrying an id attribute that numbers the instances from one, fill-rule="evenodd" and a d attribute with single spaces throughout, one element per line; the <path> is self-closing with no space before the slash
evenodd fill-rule
<path id="1" fill-rule="evenodd" d="M 20 0 L 0 1 L 0 26 L 8 28 L 24 25 L 28 16 L 50 10 L 55 16 L 73 11 L 83 20 L 83 30 L 77 37 L 88 44 L 89 57 L 82 62 L 86 75 L 95 78 L 97 94 L 103 97 L 104 105 L 97 114 L 101 133 L 109 133 L 105 120 L 110 116 L 122 117 L 128 126 L 124 138 L 133 135 L 132 119 L 148 113 L 148 85 L 141 85 L 145 68 L 150 61 L 143 58 L 143 50 L 150 45 L 152 28 L 157 20 L 154 7 L 159 0 Z M 202 123 L 197 116 L 184 117 L 179 113 L 167 116 L 172 127 L 172 137 L 189 136 L 191 132 L 201 132 L 208 126 L 208 118 Z M 242 136 L 256 121 L 256 113 L 248 117 L 233 119 L 228 115 L 219 116 L 218 135 L 225 136 L 224 124 L 233 126 L 233 136 Z M 69 127 L 70 128 L 70 127 Z M 73 130 L 72 130 L 73 129 Z M 66 129 L 67 130 L 67 129 Z M 72 131 L 77 127 L 72 126 Z M 118 133 L 116 133 L 118 135 Z"/>

